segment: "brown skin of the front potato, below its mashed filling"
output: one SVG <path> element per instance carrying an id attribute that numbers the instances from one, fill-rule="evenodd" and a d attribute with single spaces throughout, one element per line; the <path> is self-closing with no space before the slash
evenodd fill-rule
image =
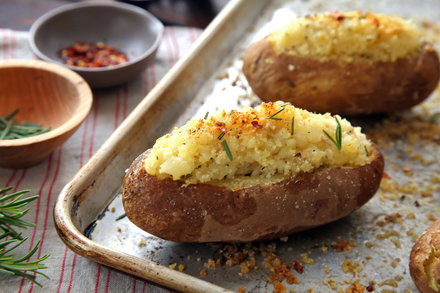
<path id="1" fill-rule="evenodd" d="M 176 242 L 247 242 L 282 237 L 342 218 L 377 191 L 382 153 L 356 168 L 332 168 L 269 186 L 230 190 L 210 184 L 159 180 L 141 154 L 123 184 L 125 212 L 139 228 Z"/>

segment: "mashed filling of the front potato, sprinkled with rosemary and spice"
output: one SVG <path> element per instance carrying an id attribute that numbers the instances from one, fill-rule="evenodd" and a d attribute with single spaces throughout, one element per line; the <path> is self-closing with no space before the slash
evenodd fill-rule
<path id="1" fill-rule="evenodd" d="M 371 160 L 371 143 L 359 127 L 339 116 L 276 102 L 190 120 L 159 138 L 143 166 L 160 179 L 238 189 Z"/>

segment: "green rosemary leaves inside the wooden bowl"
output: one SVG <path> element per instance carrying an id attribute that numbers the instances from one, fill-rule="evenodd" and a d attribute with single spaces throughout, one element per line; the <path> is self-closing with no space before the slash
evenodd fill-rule
<path id="1" fill-rule="evenodd" d="M 5 117 L 0 116 L 0 139 L 19 139 L 50 131 L 50 127 L 43 128 L 41 124 L 34 124 L 30 122 L 19 123 L 14 119 L 14 116 L 19 112 L 15 109 L 12 113 Z"/>

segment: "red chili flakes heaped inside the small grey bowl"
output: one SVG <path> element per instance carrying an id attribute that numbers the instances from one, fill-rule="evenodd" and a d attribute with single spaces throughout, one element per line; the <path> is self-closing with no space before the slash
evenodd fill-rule
<path id="1" fill-rule="evenodd" d="M 126 63 L 127 55 L 104 43 L 76 42 L 61 49 L 58 55 L 64 64 L 79 67 L 106 67 Z"/>

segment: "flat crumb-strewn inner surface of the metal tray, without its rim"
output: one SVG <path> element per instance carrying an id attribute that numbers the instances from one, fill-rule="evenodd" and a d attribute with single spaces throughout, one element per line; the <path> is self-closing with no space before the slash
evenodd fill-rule
<path id="1" fill-rule="evenodd" d="M 274 1 L 270 4 L 255 22 L 254 28 L 243 33 L 240 43 L 229 44 L 228 54 L 217 56 L 223 58 L 222 66 L 203 82 L 201 88 L 193 89 L 194 100 L 185 109 L 181 109 L 177 122 L 170 124 L 169 129 L 182 125 L 191 117 L 203 117 L 206 112 L 237 109 L 242 105 L 258 103 L 259 99 L 252 95 L 240 71 L 240 57 L 253 40 L 290 17 L 322 11 L 360 9 L 413 17 L 417 21 L 440 20 L 440 9 L 436 1 L 284 2 Z M 372 131 L 375 134 L 381 130 L 386 131 L 387 127 L 399 127 L 399 123 L 403 126 L 408 121 L 423 120 L 424 117 L 426 121 L 422 122 L 440 123 L 433 115 L 440 110 L 438 92 L 437 90 L 429 101 L 412 111 L 353 121 L 364 126 L 367 132 Z M 429 134 L 431 130 L 428 128 L 425 131 Z M 435 175 L 440 173 L 437 163 L 440 139 L 438 133 L 431 135 L 434 139 L 416 139 L 415 143 L 412 142 L 410 133 L 397 133 L 378 141 L 386 157 L 386 173 L 392 180 L 386 180 L 377 195 L 360 210 L 334 223 L 291 235 L 283 241 L 263 243 L 275 244 L 275 254 L 282 262 L 292 265 L 293 260 L 298 260 L 304 264 L 302 274 L 292 269 L 300 284 L 289 285 L 285 282 L 287 290 L 345 290 L 359 280 L 365 286 L 373 282 L 371 284 L 375 292 L 417 292 L 409 276 L 409 253 L 414 240 L 430 223 L 430 214 L 440 215 L 439 181 L 436 177 L 438 175 Z M 417 153 L 422 158 L 415 159 L 414 154 Z M 201 276 L 200 272 L 205 268 L 204 264 L 208 259 L 221 258 L 218 246 L 178 244 L 158 239 L 135 227 L 127 218 L 116 221 L 116 217 L 123 213 L 121 197 L 116 195 L 106 211 L 99 215 L 99 220 L 89 227 L 87 236 L 115 251 L 150 259 L 164 266 L 176 264 L 178 269 L 181 264 L 184 266 L 184 273 L 233 291 L 237 291 L 239 287 L 245 287 L 248 292 L 273 290 L 273 285 L 268 282 L 270 271 L 264 267 L 262 253 L 257 252 L 259 268 L 247 274 L 240 274 L 240 266 L 229 267 L 222 261 L 216 268 L 207 268 L 206 276 Z M 356 246 L 338 252 L 333 245 L 341 239 L 352 241 Z M 253 247 L 260 245 L 261 243 L 252 244 Z M 314 263 L 304 259 L 304 254 L 313 259 Z M 342 264 L 346 260 L 354 266 L 353 271 L 344 272 Z"/>

